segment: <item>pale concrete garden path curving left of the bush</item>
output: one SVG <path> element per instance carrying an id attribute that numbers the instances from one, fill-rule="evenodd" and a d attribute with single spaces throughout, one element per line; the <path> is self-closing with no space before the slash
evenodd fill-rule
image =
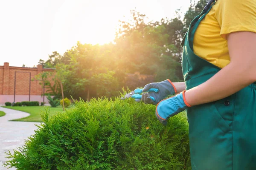
<path id="1" fill-rule="evenodd" d="M 0 170 L 7 170 L 7 167 L 3 166 L 3 163 L 7 160 L 4 153 L 8 150 L 12 151 L 17 147 L 22 147 L 24 139 L 34 134 L 34 130 L 38 128 L 35 124 L 39 125 L 40 123 L 11 122 L 9 120 L 27 117 L 29 113 L 2 107 L 0 107 L 0 111 L 6 113 L 5 116 L 0 117 Z M 15 168 L 8 170 L 15 170 Z"/>

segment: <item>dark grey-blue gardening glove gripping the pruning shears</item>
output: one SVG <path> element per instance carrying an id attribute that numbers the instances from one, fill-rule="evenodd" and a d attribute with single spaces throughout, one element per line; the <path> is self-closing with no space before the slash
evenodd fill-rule
<path id="1" fill-rule="evenodd" d="M 167 79 L 162 82 L 152 82 L 150 84 L 145 85 L 142 92 L 148 91 L 150 88 L 157 88 L 159 92 L 147 92 L 143 93 L 141 99 L 135 99 L 136 102 L 143 101 L 145 104 L 153 104 L 157 105 L 161 100 L 166 98 L 166 96 L 170 94 L 176 94 L 177 90 L 175 86 L 172 84 L 171 80 Z M 155 101 L 153 101 L 150 96 L 154 97 Z"/>

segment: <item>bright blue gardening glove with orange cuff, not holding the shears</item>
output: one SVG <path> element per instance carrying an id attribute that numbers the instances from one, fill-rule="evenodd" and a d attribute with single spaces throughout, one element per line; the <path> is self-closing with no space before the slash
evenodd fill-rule
<path id="1" fill-rule="evenodd" d="M 189 107 L 191 106 L 186 102 L 185 91 L 183 91 L 176 96 L 160 101 L 156 108 L 156 116 L 157 119 L 166 126 L 169 117 L 172 117 Z"/>

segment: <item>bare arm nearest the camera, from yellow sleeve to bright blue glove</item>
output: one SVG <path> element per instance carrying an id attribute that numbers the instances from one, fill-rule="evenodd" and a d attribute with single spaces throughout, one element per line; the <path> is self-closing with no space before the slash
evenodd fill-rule
<path id="1" fill-rule="evenodd" d="M 227 43 L 230 64 L 208 81 L 186 91 L 185 98 L 189 105 L 223 99 L 256 82 L 256 33 L 230 33 Z"/>

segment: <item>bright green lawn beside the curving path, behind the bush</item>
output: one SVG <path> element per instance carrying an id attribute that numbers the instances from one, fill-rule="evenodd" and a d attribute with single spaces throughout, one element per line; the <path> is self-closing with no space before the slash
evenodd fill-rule
<path id="1" fill-rule="evenodd" d="M 41 111 L 45 111 L 44 107 L 49 109 L 50 116 L 55 115 L 58 111 L 63 112 L 61 106 L 58 106 L 57 108 L 51 108 L 50 106 L 13 106 L 13 107 L 3 106 L 3 107 L 29 113 L 30 115 L 27 117 L 12 120 L 12 121 L 22 121 L 22 122 L 42 122 Z"/>

